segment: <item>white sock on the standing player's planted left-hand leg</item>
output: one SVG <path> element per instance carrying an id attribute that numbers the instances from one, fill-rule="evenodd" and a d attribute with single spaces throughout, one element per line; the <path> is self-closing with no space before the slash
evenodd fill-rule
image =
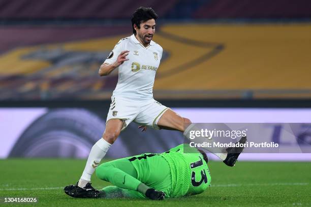
<path id="1" fill-rule="evenodd" d="M 78 182 L 79 187 L 83 188 L 86 183 L 90 182 L 92 174 L 94 173 L 96 167 L 100 164 L 103 157 L 105 157 L 110 146 L 111 144 L 106 142 L 104 139 L 100 139 L 97 143 L 95 143 L 88 155 L 85 168 Z"/>

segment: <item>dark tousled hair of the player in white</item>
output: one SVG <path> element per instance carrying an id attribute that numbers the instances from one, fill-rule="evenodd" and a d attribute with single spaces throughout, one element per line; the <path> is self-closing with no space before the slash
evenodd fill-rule
<path id="1" fill-rule="evenodd" d="M 153 11 L 150 7 L 139 7 L 135 10 L 134 14 L 132 15 L 132 28 L 133 33 L 136 35 L 136 30 L 134 29 L 134 24 L 140 29 L 140 23 L 146 22 L 149 19 L 158 19 L 158 14 Z"/>

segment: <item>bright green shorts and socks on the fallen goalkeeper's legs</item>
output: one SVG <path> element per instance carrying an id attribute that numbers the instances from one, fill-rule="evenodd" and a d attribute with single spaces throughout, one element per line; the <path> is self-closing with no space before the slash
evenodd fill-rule
<path id="1" fill-rule="evenodd" d="M 136 167 L 133 164 L 128 158 L 122 158 L 97 167 L 97 177 L 115 185 L 102 189 L 105 198 L 146 198 L 144 194 L 137 191 L 140 183 L 164 191 L 166 197 L 169 197 L 172 189 L 171 170 L 162 156 L 136 159 Z"/>

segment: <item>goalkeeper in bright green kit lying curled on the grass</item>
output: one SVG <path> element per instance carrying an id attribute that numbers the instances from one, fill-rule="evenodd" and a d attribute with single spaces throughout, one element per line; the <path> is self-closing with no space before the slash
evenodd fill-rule
<path id="1" fill-rule="evenodd" d="M 115 186 L 102 190 L 65 187 L 65 193 L 84 198 L 150 198 L 161 200 L 204 192 L 211 177 L 203 151 L 188 144 L 161 154 L 145 153 L 117 159 L 98 166 L 98 178 Z"/>

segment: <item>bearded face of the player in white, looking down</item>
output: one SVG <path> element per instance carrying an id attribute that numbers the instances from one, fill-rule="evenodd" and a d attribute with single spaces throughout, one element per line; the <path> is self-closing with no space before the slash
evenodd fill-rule
<path id="1" fill-rule="evenodd" d="M 140 28 L 136 30 L 138 38 L 146 46 L 149 45 L 153 34 L 155 32 L 155 21 L 154 19 L 149 19 L 146 22 L 140 23 Z"/>

